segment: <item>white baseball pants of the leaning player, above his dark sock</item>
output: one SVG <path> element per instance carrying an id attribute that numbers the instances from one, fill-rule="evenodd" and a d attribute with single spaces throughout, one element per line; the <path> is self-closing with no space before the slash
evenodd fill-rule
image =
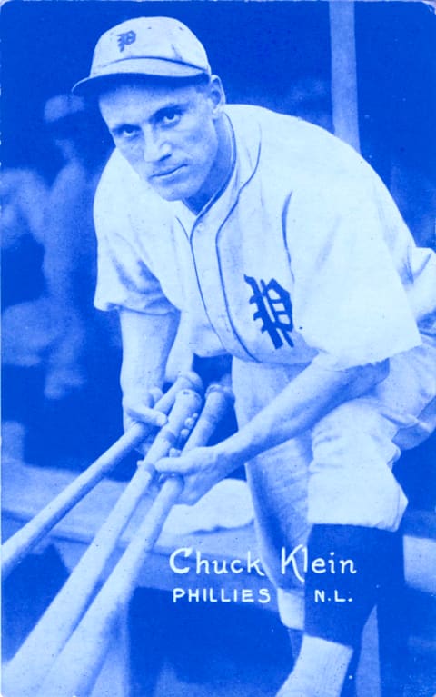
<path id="1" fill-rule="evenodd" d="M 239 425 L 300 370 L 233 359 Z M 333 409 L 311 432 L 247 463 L 263 565 L 279 589 L 288 626 L 301 623 L 294 593 L 302 596 L 302 582 L 289 568 L 283 573 L 283 553 L 304 545 L 313 523 L 398 528 L 407 499 L 392 464 L 436 427 L 435 395 L 436 342 L 425 340 L 391 358 L 389 376 L 370 392 Z"/>

